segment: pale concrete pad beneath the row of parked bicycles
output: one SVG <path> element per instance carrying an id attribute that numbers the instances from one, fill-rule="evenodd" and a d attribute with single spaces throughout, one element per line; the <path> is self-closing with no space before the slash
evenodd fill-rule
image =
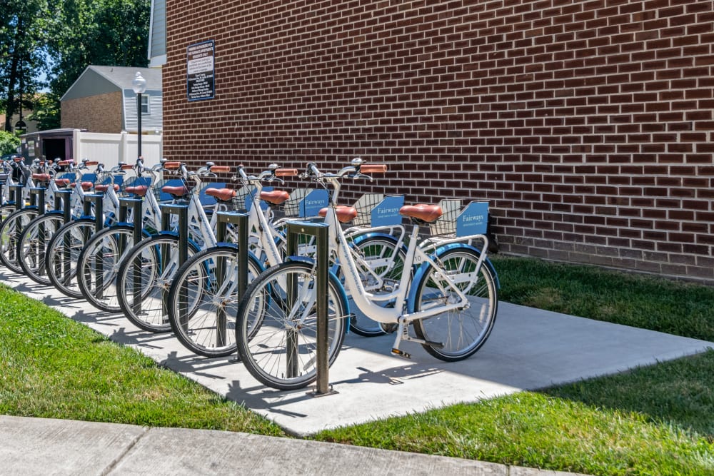
<path id="1" fill-rule="evenodd" d="M 0 279 L 8 285 L 243 402 L 296 435 L 616 373 L 714 347 L 703 340 L 499 303 L 491 338 L 476 355 L 458 363 L 437 360 L 412 343 L 403 345 L 412 360 L 403 360 L 390 353 L 391 335 L 348 335 L 330 369 L 336 393 L 313 397 L 309 389 L 266 388 L 234 358 L 198 357 L 171 334 L 146 333 L 123 315 L 102 313 L 88 303 L 64 298 L 54 288 L 4 274 Z"/>

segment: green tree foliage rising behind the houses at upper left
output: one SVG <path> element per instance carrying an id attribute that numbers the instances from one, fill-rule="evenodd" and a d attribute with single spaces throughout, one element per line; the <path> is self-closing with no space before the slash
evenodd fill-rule
<path id="1" fill-rule="evenodd" d="M 41 129 L 58 127 L 59 98 L 91 64 L 146 66 L 150 11 L 151 0 L 0 0 L 5 128 L 20 96 Z M 42 86 L 49 93 L 36 96 Z"/>

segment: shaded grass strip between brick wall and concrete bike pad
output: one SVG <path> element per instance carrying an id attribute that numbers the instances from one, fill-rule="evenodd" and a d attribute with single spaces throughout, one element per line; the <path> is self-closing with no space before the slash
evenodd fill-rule
<path id="1" fill-rule="evenodd" d="M 493 263 L 509 303 L 714 341 L 713 287 L 533 258 Z"/>

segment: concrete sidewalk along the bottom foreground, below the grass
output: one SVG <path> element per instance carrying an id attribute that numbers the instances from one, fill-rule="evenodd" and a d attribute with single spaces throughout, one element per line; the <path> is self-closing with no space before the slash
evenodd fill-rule
<path id="1" fill-rule="evenodd" d="M 475 475 L 573 473 L 246 433 L 0 415 L 4 475 Z"/>

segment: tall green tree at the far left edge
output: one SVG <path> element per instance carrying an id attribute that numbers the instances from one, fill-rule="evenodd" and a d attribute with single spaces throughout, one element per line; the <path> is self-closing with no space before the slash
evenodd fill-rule
<path id="1" fill-rule="evenodd" d="M 46 0 L 3 0 L 0 3 L 0 109 L 4 129 L 12 131 L 12 116 L 31 108 L 41 86 L 44 65 Z"/>

